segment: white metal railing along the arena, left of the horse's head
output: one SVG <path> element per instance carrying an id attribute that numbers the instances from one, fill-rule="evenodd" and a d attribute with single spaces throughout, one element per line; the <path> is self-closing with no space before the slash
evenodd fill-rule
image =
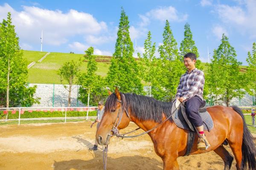
<path id="1" fill-rule="evenodd" d="M 15 114 L 17 111 L 19 112 L 19 118 L 18 119 L 4 119 L 0 121 L 14 121 L 18 120 L 18 125 L 20 125 L 20 120 L 60 120 L 65 119 L 65 123 L 67 122 L 67 119 L 78 119 L 78 118 L 86 118 L 88 120 L 88 113 L 90 111 L 96 110 L 98 107 L 5 107 L 0 108 L 0 111 L 3 111 L 4 114 L 6 114 L 9 111 L 12 111 L 12 114 Z M 76 110 L 74 110 L 76 109 Z M 20 114 L 23 114 L 24 111 L 33 112 L 33 111 L 44 111 L 44 112 L 54 112 L 54 111 L 65 111 L 65 118 L 64 117 L 52 117 L 52 118 L 20 118 Z M 67 111 L 87 111 L 86 117 L 68 117 L 67 118 Z M 14 113 L 13 113 L 14 112 Z M 92 118 L 96 118 L 96 116 L 92 116 Z"/>

